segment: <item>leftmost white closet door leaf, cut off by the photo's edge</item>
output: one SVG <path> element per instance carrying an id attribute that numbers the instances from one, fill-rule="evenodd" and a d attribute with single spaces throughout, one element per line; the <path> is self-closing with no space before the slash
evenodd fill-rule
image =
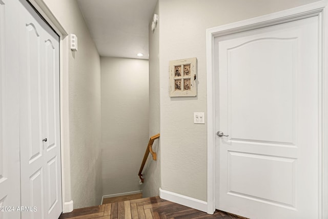
<path id="1" fill-rule="evenodd" d="M 0 218 L 19 218 L 17 2 L 0 0 Z M 19 135 L 19 134 L 18 134 Z M 12 208 L 14 207 L 14 208 Z"/>

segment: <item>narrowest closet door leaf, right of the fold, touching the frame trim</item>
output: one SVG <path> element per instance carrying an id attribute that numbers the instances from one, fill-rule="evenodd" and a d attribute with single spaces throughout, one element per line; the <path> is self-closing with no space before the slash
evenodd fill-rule
<path id="1" fill-rule="evenodd" d="M 57 218 L 61 212 L 60 130 L 59 130 L 59 37 L 52 30 L 44 33 L 45 45 L 45 105 L 44 128 L 48 141 L 46 163 L 46 218 Z"/>

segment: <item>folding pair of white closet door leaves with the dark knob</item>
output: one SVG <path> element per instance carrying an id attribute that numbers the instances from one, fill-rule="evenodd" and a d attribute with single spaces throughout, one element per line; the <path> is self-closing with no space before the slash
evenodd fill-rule
<path id="1" fill-rule="evenodd" d="M 59 37 L 25 0 L 19 1 L 24 9 L 19 24 L 21 199 L 22 205 L 37 208 L 22 218 L 57 219 L 62 211 Z"/>

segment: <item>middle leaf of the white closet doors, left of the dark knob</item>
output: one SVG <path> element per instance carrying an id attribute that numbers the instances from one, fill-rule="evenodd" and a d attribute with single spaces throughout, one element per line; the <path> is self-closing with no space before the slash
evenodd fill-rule
<path id="1" fill-rule="evenodd" d="M 22 8 L 23 9 L 23 8 Z M 45 134 L 42 130 L 44 83 L 44 42 L 42 27 L 23 9 L 20 31 L 20 181 L 22 206 L 35 211 L 22 212 L 22 218 L 45 218 Z"/>

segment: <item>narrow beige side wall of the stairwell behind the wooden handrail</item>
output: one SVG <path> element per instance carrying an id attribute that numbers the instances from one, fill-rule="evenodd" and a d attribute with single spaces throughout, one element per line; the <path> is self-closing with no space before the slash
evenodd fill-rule
<path id="1" fill-rule="evenodd" d="M 158 4 L 154 9 L 158 14 Z M 149 136 L 159 133 L 159 23 L 153 32 L 151 24 L 149 26 Z M 144 184 L 142 184 L 142 195 L 144 197 L 153 197 L 159 195 L 160 187 L 160 145 L 159 140 L 155 140 L 153 151 L 157 153 L 157 161 L 148 156 L 146 166 L 142 175 Z"/>

